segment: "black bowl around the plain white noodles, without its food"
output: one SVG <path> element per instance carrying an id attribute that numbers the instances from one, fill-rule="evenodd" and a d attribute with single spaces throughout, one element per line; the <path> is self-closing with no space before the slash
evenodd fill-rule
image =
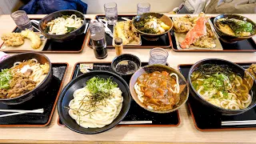
<path id="1" fill-rule="evenodd" d="M 68 107 L 70 101 L 74 98 L 74 91 L 85 87 L 87 80 L 96 76 L 98 76 L 99 78 L 112 77 L 113 81 L 118 83 L 118 87 L 122 91 L 123 97 L 122 110 L 118 114 L 118 117 L 115 118 L 114 121 L 111 122 L 109 125 L 106 125 L 102 128 L 83 128 L 82 126 L 79 126 L 73 118 L 70 117 L 70 115 L 68 114 L 69 110 L 65 107 Z M 118 123 L 121 122 L 123 118 L 125 118 L 128 110 L 130 109 L 130 99 L 131 97 L 129 86 L 120 76 L 109 71 L 95 70 L 86 74 L 82 74 L 77 78 L 74 78 L 70 83 L 65 86 L 65 88 L 62 90 L 60 98 L 58 98 L 58 115 L 63 124 L 67 126 L 70 130 L 74 130 L 75 132 L 81 134 L 98 134 L 106 130 L 110 130 L 114 126 L 118 125 Z"/>

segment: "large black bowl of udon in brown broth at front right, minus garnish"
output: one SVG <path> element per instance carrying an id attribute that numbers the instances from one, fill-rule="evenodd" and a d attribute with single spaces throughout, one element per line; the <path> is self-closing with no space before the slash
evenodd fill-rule
<path id="1" fill-rule="evenodd" d="M 226 95 L 222 93 L 221 90 L 219 90 L 218 92 L 216 91 L 214 92 L 215 89 L 209 89 L 209 87 L 207 89 L 204 89 L 207 83 L 205 83 L 203 78 L 199 79 L 198 77 L 199 81 L 204 82 L 202 85 L 198 84 L 199 82 L 196 82 L 198 85 L 195 85 L 193 80 L 194 71 L 200 69 L 200 66 L 202 67 L 208 64 L 215 65 L 215 66 L 226 66 L 226 69 L 229 69 L 232 71 L 232 75 L 233 74 L 237 75 L 235 76 L 236 79 L 234 78 L 233 80 L 231 75 L 229 75 L 228 77 L 229 80 L 227 81 L 225 80 L 226 84 L 223 81 L 224 85 L 222 90 L 224 90 L 225 92 L 227 91 Z M 222 74 L 222 73 L 220 72 L 219 74 Z M 210 78 L 210 76 L 207 76 L 207 77 Z M 238 80 L 239 77 L 240 77 L 240 80 Z M 190 83 L 191 96 L 193 96 L 193 98 L 196 99 L 198 102 L 201 102 L 204 106 L 210 107 L 212 110 L 216 110 L 222 115 L 242 114 L 247 110 L 250 110 L 256 105 L 256 98 L 254 95 L 256 92 L 256 82 L 254 78 L 250 75 L 250 73 L 247 70 L 242 68 L 242 66 L 238 66 L 233 62 L 229 62 L 229 61 L 226 61 L 223 59 L 217 59 L 217 58 L 203 59 L 202 61 L 196 62 L 190 68 L 188 81 Z M 206 81 L 206 82 L 209 82 L 209 81 Z M 213 83 L 214 85 L 215 81 L 210 81 L 210 82 Z M 230 82 L 230 89 L 227 89 L 226 86 L 227 87 L 229 86 L 228 84 L 229 82 Z M 201 86 L 203 86 L 202 89 L 200 89 Z M 244 88 L 241 86 L 243 87 L 246 86 L 247 87 L 246 91 L 248 90 L 248 94 L 250 94 L 248 95 L 247 103 L 246 103 L 246 100 L 243 101 L 241 98 L 243 94 L 246 94 Z M 241 94 L 241 95 L 238 95 L 238 94 Z"/>

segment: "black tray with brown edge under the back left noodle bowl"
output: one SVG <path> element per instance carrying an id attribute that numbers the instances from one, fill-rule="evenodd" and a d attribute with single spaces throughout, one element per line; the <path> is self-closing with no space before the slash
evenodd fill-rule
<path id="1" fill-rule="evenodd" d="M 38 20 L 40 21 L 40 19 L 37 18 L 31 18 L 34 20 Z M 90 22 L 90 18 L 86 18 L 86 34 L 88 31 L 88 27 L 89 27 L 89 22 Z M 38 28 L 37 25 L 34 25 L 34 23 L 32 22 L 32 25 L 36 28 Z M 16 27 L 13 32 L 15 33 L 19 33 L 21 32 L 21 30 L 18 29 L 18 27 Z M 39 32 L 38 30 L 34 29 L 34 32 Z M 46 41 L 46 45 L 43 47 L 42 51 L 38 51 L 39 53 L 80 53 L 82 52 L 84 46 L 86 46 L 86 34 L 81 34 L 78 37 L 74 38 L 71 41 L 67 41 L 67 42 L 54 42 L 50 39 L 47 39 Z M 1 46 L 0 46 L 1 47 Z M 17 53 L 17 52 L 26 52 L 28 50 L 4 50 L 0 48 L 0 51 L 5 51 L 5 52 L 13 52 L 13 53 Z"/>

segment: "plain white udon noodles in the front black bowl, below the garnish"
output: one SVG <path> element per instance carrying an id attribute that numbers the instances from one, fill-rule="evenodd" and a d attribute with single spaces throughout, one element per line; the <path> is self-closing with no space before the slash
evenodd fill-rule
<path id="1" fill-rule="evenodd" d="M 112 96 L 106 99 L 105 106 L 101 102 L 96 104 L 97 110 L 86 106 L 89 103 L 86 97 L 88 94 L 90 91 L 86 87 L 74 91 L 74 99 L 69 103 L 70 117 L 85 128 L 101 128 L 113 122 L 122 109 L 122 91 L 119 88 L 112 89 Z M 93 112 L 88 114 L 88 111 Z"/>

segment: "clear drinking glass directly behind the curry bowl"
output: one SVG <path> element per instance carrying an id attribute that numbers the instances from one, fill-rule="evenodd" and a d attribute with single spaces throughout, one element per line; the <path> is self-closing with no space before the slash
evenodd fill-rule
<path id="1" fill-rule="evenodd" d="M 162 49 L 162 48 L 154 48 L 150 50 L 150 60 L 149 64 L 162 64 L 166 65 L 166 61 L 169 54 L 168 51 Z"/>

